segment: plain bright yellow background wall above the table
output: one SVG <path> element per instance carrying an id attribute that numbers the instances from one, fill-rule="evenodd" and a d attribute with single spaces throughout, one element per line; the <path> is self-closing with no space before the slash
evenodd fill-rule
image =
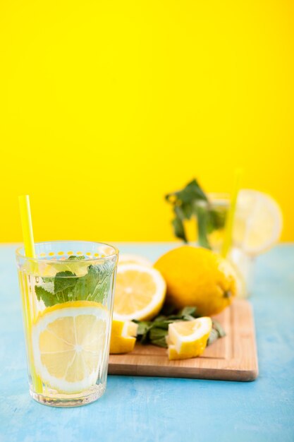
<path id="1" fill-rule="evenodd" d="M 294 240 L 294 2 L 2 0 L 0 241 L 170 240 L 197 177 L 271 193 Z"/>

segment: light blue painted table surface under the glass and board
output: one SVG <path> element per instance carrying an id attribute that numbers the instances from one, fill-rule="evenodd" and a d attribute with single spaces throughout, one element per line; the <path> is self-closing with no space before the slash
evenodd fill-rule
<path id="1" fill-rule="evenodd" d="M 174 244 L 118 244 L 154 260 Z M 294 441 L 294 245 L 257 258 L 259 377 L 250 383 L 109 376 L 104 396 L 51 408 L 30 398 L 14 251 L 0 247 L 0 441 Z"/>

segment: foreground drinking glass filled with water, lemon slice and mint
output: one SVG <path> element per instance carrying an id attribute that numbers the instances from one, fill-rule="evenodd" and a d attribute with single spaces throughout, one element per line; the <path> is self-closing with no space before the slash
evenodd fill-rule
<path id="1" fill-rule="evenodd" d="M 84 405 L 106 388 L 118 250 L 90 241 L 16 251 L 32 398 Z"/>

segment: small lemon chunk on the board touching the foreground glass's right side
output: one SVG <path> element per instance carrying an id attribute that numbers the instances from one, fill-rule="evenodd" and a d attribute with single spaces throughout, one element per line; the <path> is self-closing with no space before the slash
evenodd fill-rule
<path id="1" fill-rule="evenodd" d="M 137 324 L 132 321 L 112 321 L 110 354 L 129 353 L 134 350 Z"/>

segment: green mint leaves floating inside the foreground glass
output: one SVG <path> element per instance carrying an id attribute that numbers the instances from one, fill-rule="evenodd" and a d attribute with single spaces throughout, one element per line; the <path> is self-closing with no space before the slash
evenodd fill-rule
<path id="1" fill-rule="evenodd" d="M 85 256 L 70 256 L 66 261 L 81 259 Z M 112 263 L 105 262 L 103 265 L 89 265 L 83 276 L 66 270 L 54 277 L 42 277 L 42 284 L 35 285 L 37 299 L 42 299 L 47 307 L 78 300 L 103 302 L 109 293 L 113 268 Z"/>

